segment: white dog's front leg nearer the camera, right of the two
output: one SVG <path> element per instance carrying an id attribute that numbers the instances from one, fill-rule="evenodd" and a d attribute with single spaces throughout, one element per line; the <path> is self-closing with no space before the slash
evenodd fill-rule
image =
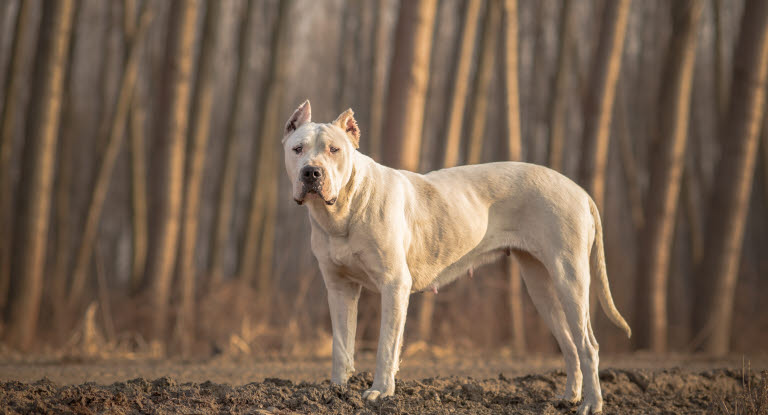
<path id="1" fill-rule="evenodd" d="M 380 287 L 381 328 L 379 349 L 376 352 L 376 374 L 373 385 L 363 393 L 364 399 L 376 400 L 395 393 L 395 374 L 400 364 L 403 345 L 405 315 L 411 294 L 411 277 L 408 274 L 389 281 Z"/>

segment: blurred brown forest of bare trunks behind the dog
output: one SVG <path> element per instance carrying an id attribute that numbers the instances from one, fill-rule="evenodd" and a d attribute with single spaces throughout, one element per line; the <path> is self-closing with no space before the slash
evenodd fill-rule
<path id="1" fill-rule="evenodd" d="M 602 351 L 764 351 L 767 71 L 763 0 L 3 0 L 0 353 L 327 353 L 280 145 L 304 99 L 389 166 L 584 186 L 634 331 L 593 301 Z M 558 350 L 514 263 L 409 315 L 407 350 Z"/>

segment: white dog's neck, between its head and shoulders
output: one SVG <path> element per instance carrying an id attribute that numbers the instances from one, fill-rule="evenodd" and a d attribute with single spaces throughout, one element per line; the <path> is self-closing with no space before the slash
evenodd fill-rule
<path id="1" fill-rule="evenodd" d="M 362 192 L 361 189 L 364 187 L 365 174 L 371 160 L 357 151 L 354 156 L 356 160 L 349 180 L 339 191 L 336 203 L 327 205 L 321 198 L 314 198 L 306 203 L 312 224 L 329 235 L 347 236 L 355 207 L 360 206 L 361 198 L 365 197 L 366 192 Z"/>

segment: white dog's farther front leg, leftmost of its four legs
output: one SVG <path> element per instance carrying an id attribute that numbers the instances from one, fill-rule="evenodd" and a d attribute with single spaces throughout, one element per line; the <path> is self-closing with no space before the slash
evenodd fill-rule
<path id="1" fill-rule="evenodd" d="M 331 382 L 343 385 L 355 371 L 355 332 L 360 284 L 323 270 L 333 330 Z"/>

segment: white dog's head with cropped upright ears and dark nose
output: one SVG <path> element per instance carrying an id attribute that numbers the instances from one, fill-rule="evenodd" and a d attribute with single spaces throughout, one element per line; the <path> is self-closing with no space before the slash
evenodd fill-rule
<path id="1" fill-rule="evenodd" d="M 321 199 L 333 205 L 352 174 L 360 129 L 351 109 L 328 124 L 313 123 L 311 118 L 309 101 L 304 101 L 285 123 L 285 168 L 296 203 Z"/>

